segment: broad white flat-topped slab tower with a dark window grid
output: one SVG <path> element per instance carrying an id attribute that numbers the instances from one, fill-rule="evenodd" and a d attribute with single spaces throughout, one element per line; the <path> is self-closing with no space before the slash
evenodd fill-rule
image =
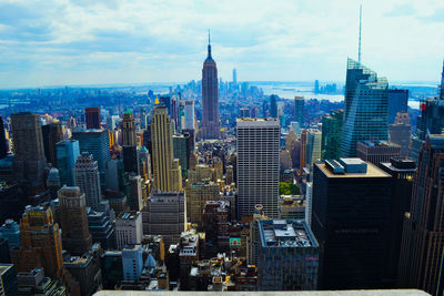
<path id="1" fill-rule="evenodd" d="M 263 205 L 278 217 L 280 126 L 276 119 L 238 119 L 238 214 Z"/>

